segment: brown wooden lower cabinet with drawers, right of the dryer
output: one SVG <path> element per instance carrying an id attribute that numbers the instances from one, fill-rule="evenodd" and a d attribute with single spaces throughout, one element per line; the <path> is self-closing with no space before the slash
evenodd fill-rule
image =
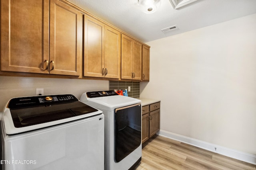
<path id="1" fill-rule="evenodd" d="M 142 107 L 142 143 L 160 129 L 160 102 Z"/>

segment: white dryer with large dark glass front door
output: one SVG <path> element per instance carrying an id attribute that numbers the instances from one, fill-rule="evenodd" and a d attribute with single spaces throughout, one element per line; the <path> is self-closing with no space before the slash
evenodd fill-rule
<path id="1" fill-rule="evenodd" d="M 114 91 L 86 92 L 80 101 L 105 116 L 105 170 L 133 169 L 142 156 L 141 101 Z"/>

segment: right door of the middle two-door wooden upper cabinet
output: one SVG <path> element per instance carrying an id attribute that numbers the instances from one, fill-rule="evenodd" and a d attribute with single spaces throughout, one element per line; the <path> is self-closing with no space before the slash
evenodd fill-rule
<path id="1" fill-rule="evenodd" d="M 121 34 L 105 26 L 105 77 L 120 78 L 121 70 Z"/>

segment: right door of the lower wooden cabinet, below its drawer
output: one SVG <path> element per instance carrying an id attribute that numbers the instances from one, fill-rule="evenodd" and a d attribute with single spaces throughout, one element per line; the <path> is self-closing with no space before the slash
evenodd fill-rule
<path id="1" fill-rule="evenodd" d="M 149 137 L 152 137 L 160 129 L 160 109 L 149 113 Z"/>

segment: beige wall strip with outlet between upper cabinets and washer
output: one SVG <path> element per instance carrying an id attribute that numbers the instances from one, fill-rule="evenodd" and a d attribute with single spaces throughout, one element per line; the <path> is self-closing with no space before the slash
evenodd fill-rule
<path id="1" fill-rule="evenodd" d="M 44 88 L 44 95 L 73 94 L 80 99 L 84 92 L 108 90 L 108 86 L 107 80 L 0 76 L 0 112 L 11 98 L 35 96 L 36 88 Z"/>

